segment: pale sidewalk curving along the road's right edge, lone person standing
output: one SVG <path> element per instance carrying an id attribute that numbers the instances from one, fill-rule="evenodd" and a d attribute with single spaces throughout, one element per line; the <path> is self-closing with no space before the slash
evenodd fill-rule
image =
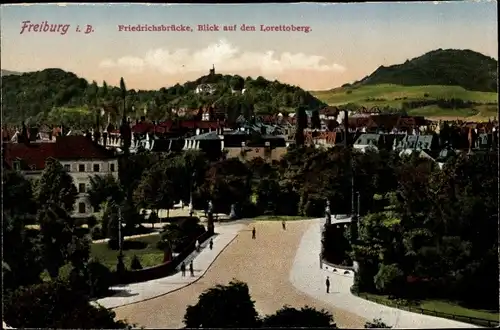
<path id="1" fill-rule="evenodd" d="M 290 272 L 290 282 L 300 291 L 331 306 L 343 308 L 368 320 L 381 318 L 394 328 L 477 328 L 477 326 L 449 319 L 422 315 L 376 304 L 354 296 L 350 288 L 354 282 L 352 272 L 331 272 L 320 268 L 321 229 L 323 219 L 310 221 L 310 227 L 303 235 Z M 331 292 L 326 293 L 326 277 L 330 277 Z"/>

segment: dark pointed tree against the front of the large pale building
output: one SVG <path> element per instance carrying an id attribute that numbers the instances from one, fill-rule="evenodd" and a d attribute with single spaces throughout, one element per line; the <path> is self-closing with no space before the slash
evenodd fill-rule
<path id="1" fill-rule="evenodd" d="M 57 160 L 49 158 L 38 182 L 36 198 L 39 205 L 54 205 L 71 214 L 77 190 L 73 178 Z"/>

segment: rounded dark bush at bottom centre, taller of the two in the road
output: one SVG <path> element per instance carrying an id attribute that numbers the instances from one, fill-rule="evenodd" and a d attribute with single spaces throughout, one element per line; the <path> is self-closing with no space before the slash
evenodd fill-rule
<path id="1" fill-rule="evenodd" d="M 203 292 L 196 305 L 187 307 L 184 324 L 187 328 L 251 328 L 258 326 L 259 317 L 248 285 L 233 280 Z"/>

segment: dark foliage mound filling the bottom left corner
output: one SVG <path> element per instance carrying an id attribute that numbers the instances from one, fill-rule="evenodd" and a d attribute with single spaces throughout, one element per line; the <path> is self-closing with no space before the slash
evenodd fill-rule
<path id="1" fill-rule="evenodd" d="M 115 313 L 90 305 L 87 297 L 62 282 L 47 282 L 7 292 L 3 319 L 14 328 L 124 329 Z"/>

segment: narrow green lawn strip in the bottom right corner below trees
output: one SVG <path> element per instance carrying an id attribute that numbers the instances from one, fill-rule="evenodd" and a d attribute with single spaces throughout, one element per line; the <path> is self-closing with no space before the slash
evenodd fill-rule
<path id="1" fill-rule="evenodd" d="M 375 294 L 371 294 L 371 293 L 363 293 L 361 295 L 361 297 L 368 299 L 368 300 L 376 301 L 376 302 L 382 302 L 382 303 L 389 305 L 389 306 L 394 306 L 394 301 L 387 298 L 387 296 L 375 295 Z M 412 305 L 412 307 L 413 307 L 413 305 Z M 470 309 L 470 308 L 462 307 L 462 306 L 458 305 L 457 303 L 450 302 L 450 301 L 422 300 L 422 301 L 417 302 L 414 305 L 414 307 L 427 309 L 427 310 L 433 311 L 433 312 L 436 311 L 436 312 L 441 312 L 441 313 L 454 314 L 454 315 L 458 316 L 457 320 L 460 320 L 463 322 L 469 322 L 469 321 L 466 319 L 460 318 L 460 316 L 474 317 L 474 318 L 485 319 L 485 320 L 496 321 L 496 322 L 498 322 L 499 318 L 500 318 L 500 314 L 498 312 Z M 403 308 L 403 309 L 405 309 L 405 308 Z M 412 311 L 413 311 L 413 309 L 412 309 Z M 485 326 L 486 325 L 487 324 L 485 324 Z"/>

